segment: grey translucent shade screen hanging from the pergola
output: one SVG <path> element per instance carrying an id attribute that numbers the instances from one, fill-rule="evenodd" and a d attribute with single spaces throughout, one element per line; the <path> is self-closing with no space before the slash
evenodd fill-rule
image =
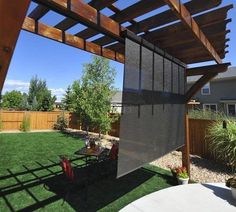
<path id="1" fill-rule="evenodd" d="M 185 66 L 129 38 L 125 45 L 118 177 L 185 140 Z"/>

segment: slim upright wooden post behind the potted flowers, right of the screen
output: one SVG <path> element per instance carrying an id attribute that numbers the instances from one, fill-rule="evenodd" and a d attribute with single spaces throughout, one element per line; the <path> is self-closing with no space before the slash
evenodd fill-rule
<path id="1" fill-rule="evenodd" d="M 189 119 L 185 115 L 185 146 L 182 148 L 182 166 L 187 168 L 190 177 L 190 141 L 189 141 Z"/>

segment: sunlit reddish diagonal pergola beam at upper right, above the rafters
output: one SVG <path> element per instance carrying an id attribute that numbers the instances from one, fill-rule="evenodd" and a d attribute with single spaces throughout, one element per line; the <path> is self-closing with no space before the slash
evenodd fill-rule
<path id="1" fill-rule="evenodd" d="M 208 51 L 212 58 L 219 64 L 222 63 L 220 56 L 213 48 L 205 34 L 202 32 L 197 22 L 192 18 L 191 14 L 187 8 L 180 3 L 179 0 L 165 0 L 165 2 L 170 6 L 172 11 L 177 17 L 182 21 L 182 23 L 188 27 L 193 36 L 200 42 L 200 44 Z"/>

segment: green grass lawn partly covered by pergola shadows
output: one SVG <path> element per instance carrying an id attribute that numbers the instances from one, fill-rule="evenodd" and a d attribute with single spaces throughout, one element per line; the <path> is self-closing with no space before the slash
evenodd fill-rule
<path id="1" fill-rule="evenodd" d="M 170 172 L 148 165 L 120 179 L 95 178 L 87 190 L 73 189 L 63 200 L 68 184 L 58 156 L 70 155 L 82 176 L 84 162 L 73 155 L 82 146 L 81 139 L 62 133 L 0 134 L 0 211 L 118 211 L 174 185 Z"/>

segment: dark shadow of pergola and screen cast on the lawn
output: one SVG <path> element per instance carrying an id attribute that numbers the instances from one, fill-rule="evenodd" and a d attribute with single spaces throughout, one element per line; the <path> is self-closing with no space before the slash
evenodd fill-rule
<path id="1" fill-rule="evenodd" d="M 81 159 L 74 159 L 76 163 Z M 14 173 L 8 170 L 8 174 L 0 177 L 1 181 L 14 179 L 16 183 L 1 186 L 0 198 L 5 202 L 10 211 L 33 211 L 55 203 L 58 209 L 67 203 L 75 211 L 97 211 L 109 203 L 118 200 L 133 189 L 137 188 L 153 176 L 163 178 L 169 185 L 174 185 L 173 178 L 169 175 L 155 172 L 147 168 L 140 168 L 122 178 L 116 179 L 116 171 L 111 167 L 116 166 L 113 162 L 105 161 L 85 167 L 79 164 L 75 168 L 76 182 L 71 183 L 65 179 L 59 164 L 51 161 L 50 165 L 36 162 L 37 168 L 23 166 L 25 171 Z M 53 168 L 57 168 L 53 170 Z M 111 170 L 113 170 L 111 172 Z M 38 174 L 43 171 L 43 174 Z M 30 179 L 24 179 L 24 175 L 30 175 Z M 32 188 L 41 186 L 41 193 L 50 193 L 48 197 L 39 198 L 39 190 L 32 192 Z M 9 198 L 17 192 L 26 192 L 33 200 L 23 207 L 17 208 L 15 199 Z M 29 198 L 28 198 L 29 199 Z M 27 198 L 26 198 L 27 200 Z M 58 202 L 58 200 L 63 200 Z M 133 200 L 132 200 L 133 201 Z M 16 209 L 17 208 L 17 209 Z"/>

